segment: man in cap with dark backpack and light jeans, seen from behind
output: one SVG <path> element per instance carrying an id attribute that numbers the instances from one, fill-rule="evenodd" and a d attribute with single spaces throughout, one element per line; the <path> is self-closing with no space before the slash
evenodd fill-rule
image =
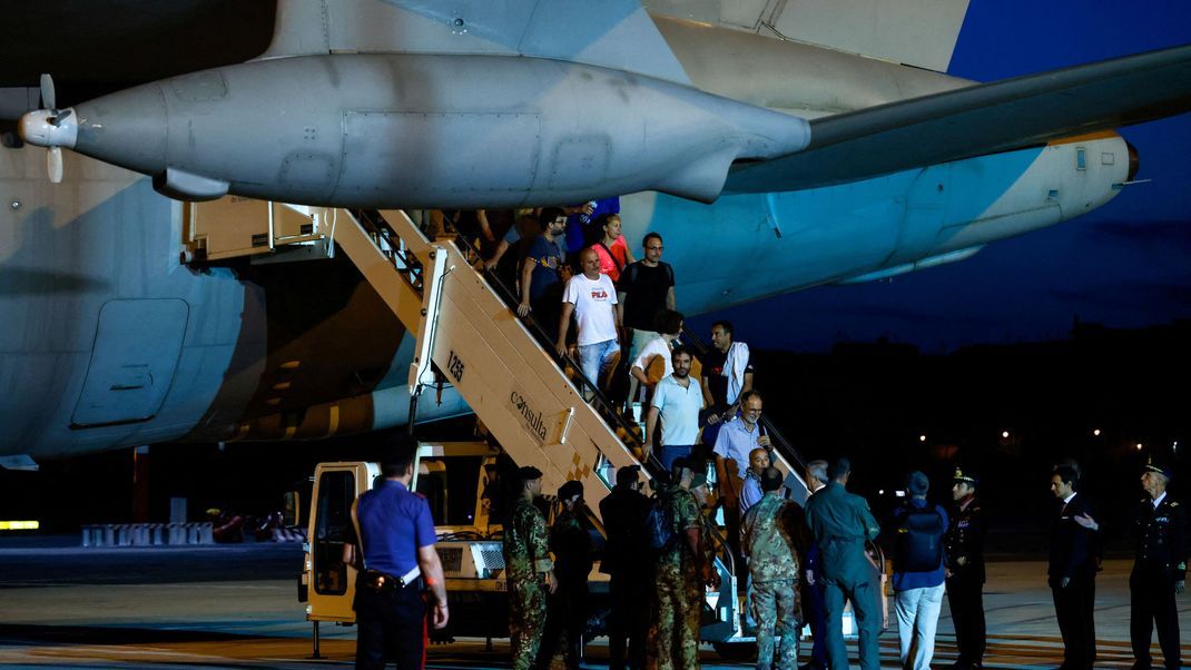
<path id="1" fill-rule="evenodd" d="M 943 533 L 947 513 L 927 502 L 930 481 L 915 470 L 905 480 L 910 499 L 893 512 L 893 607 L 903 668 L 929 670 L 935 627 L 943 605 Z M 913 657 L 911 660 L 911 650 Z"/>

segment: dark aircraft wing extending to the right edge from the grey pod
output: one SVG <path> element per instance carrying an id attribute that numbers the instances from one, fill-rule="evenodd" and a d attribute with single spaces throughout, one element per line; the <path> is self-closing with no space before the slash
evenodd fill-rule
<path id="1" fill-rule="evenodd" d="M 830 186 L 1191 109 L 1191 44 L 811 121 L 798 154 L 732 168 L 724 193 Z"/>

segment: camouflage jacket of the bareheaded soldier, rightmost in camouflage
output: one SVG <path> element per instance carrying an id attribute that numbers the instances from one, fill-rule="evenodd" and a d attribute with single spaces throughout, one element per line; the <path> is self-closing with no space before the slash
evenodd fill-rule
<path id="1" fill-rule="evenodd" d="M 791 524 L 797 506 L 777 494 L 766 493 L 749 508 L 741 522 L 741 549 L 748 555 L 754 582 L 798 578 L 798 553 Z"/>

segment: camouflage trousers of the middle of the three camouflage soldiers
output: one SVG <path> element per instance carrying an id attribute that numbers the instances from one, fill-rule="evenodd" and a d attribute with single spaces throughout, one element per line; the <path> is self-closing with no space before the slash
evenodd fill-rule
<path id="1" fill-rule="evenodd" d="M 657 612 L 649 627 L 650 670 L 690 670 L 699 666 L 699 609 L 703 589 L 693 568 L 659 565 L 655 580 Z"/>

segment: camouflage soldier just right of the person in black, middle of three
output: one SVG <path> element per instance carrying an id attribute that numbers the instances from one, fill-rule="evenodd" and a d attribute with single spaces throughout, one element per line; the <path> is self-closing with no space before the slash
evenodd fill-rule
<path id="1" fill-rule="evenodd" d="M 707 477 L 692 472 L 685 458 L 674 462 L 676 483 L 662 494 L 669 506 L 674 541 L 657 557 L 657 621 L 649 630 L 648 668 L 687 670 L 699 666 L 699 610 L 711 572 L 699 509 L 707 502 Z"/>

